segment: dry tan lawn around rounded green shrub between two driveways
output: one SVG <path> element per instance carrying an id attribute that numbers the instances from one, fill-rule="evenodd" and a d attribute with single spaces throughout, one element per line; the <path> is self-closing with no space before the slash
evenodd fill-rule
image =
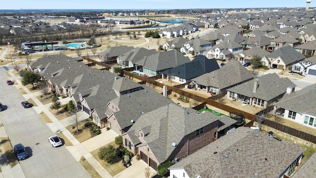
<path id="1" fill-rule="evenodd" d="M 115 144 L 115 141 L 113 141 L 105 146 L 108 146 L 108 145 L 113 145 L 116 149 L 118 149 L 118 145 Z M 102 165 L 102 167 L 105 170 L 107 170 L 107 172 L 111 176 L 114 176 L 125 169 L 125 167 L 123 165 L 122 158 L 117 156 L 114 159 L 113 164 L 107 163 L 106 161 L 103 161 L 99 158 L 99 156 L 98 156 L 99 150 L 100 150 L 100 148 L 91 151 L 91 155 Z"/>

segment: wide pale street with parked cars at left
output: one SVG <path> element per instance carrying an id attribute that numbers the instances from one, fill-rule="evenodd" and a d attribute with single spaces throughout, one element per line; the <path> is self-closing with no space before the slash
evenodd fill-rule
<path id="1" fill-rule="evenodd" d="M 22 143 L 29 158 L 20 161 L 26 178 L 90 178 L 66 147 L 54 148 L 48 137 L 54 135 L 33 108 L 24 109 L 26 100 L 15 86 L 6 85 L 8 77 L 0 66 L 0 102 L 7 107 L 0 121 L 12 145 Z"/>

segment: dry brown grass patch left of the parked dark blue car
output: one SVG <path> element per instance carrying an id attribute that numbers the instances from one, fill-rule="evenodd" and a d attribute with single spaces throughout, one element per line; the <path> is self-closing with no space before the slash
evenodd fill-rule
<path id="1" fill-rule="evenodd" d="M 16 156 L 14 154 L 14 151 L 12 150 L 11 143 L 7 137 L 0 137 L 0 143 L 2 145 L 4 154 L 8 160 L 8 162 L 1 162 L 1 166 L 5 166 L 7 164 L 10 165 L 11 168 L 13 168 L 15 165 L 18 164 L 18 161 L 16 159 Z"/>

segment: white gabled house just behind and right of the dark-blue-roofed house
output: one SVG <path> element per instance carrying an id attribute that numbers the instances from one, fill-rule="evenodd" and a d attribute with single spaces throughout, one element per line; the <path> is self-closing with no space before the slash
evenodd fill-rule
<path id="1" fill-rule="evenodd" d="M 243 51 L 243 46 L 236 42 L 223 42 L 218 45 L 214 45 L 212 48 L 205 50 L 203 55 L 207 58 L 215 59 L 230 59 L 233 55 Z"/>

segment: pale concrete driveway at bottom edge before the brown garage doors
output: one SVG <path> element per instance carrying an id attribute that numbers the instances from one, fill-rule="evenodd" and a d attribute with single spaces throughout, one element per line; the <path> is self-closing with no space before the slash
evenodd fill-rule
<path id="1" fill-rule="evenodd" d="M 113 178 L 146 178 L 145 169 L 148 168 L 148 165 L 143 160 L 136 160 L 135 156 L 131 160 L 131 166 L 124 169 Z M 157 171 L 149 167 L 151 174 L 156 175 Z"/>

